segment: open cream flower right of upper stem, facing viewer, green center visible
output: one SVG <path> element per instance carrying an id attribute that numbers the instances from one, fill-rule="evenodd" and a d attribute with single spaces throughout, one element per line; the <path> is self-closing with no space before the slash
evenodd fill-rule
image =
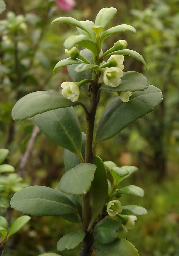
<path id="1" fill-rule="evenodd" d="M 123 71 L 116 67 L 107 68 L 104 71 L 104 84 L 112 87 L 116 87 L 121 82 L 121 77 L 123 76 Z"/>

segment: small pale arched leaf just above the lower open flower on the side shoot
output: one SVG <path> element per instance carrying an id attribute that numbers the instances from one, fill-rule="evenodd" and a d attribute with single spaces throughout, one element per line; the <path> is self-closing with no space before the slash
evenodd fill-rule
<path id="1" fill-rule="evenodd" d="M 136 195 L 143 197 L 144 196 L 144 190 L 140 187 L 134 186 L 134 185 L 129 185 L 123 188 L 118 189 L 116 193 L 116 197 L 121 194 L 128 194 L 128 195 Z"/>

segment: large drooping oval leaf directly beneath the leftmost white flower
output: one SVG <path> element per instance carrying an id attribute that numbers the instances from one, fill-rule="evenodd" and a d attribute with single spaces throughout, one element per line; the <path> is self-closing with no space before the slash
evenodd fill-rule
<path id="1" fill-rule="evenodd" d="M 72 102 L 55 92 L 32 92 L 18 100 L 12 109 L 12 118 L 22 121 L 48 110 L 76 106 L 79 102 Z"/>

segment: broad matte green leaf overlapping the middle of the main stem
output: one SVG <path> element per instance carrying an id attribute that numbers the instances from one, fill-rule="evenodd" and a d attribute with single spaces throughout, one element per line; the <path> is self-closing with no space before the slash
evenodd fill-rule
<path id="1" fill-rule="evenodd" d="M 78 164 L 62 176 L 58 188 L 66 194 L 85 194 L 91 187 L 95 170 L 96 165 L 94 164 Z"/>

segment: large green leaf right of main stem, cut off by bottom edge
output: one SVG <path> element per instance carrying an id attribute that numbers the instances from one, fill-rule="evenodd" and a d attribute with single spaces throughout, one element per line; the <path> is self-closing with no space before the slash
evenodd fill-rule
<path id="1" fill-rule="evenodd" d="M 139 256 L 135 246 L 123 238 L 117 238 L 107 245 L 98 244 L 94 251 L 97 256 Z"/>

